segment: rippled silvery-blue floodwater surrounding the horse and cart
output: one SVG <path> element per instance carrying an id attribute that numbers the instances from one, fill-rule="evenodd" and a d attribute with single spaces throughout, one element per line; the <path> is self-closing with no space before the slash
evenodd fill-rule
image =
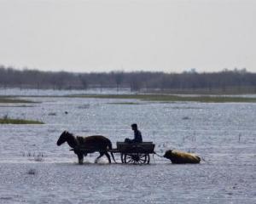
<path id="1" fill-rule="evenodd" d="M 26 95 L 40 103 L 0 104 L 0 117 L 45 124 L 0 126 L 0 203 L 256 203 L 256 104 Z M 185 150 L 203 161 L 95 164 L 95 153 L 79 165 L 67 144 L 56 145 L 67 130 L 105 135 L 115 147 L 132 138 L 134 122 L 158 154 Z"/>

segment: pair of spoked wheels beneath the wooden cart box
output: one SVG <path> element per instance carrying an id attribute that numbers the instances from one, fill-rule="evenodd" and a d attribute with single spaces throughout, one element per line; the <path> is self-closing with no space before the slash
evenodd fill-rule
<path id="1" fill-rule="evenodd" d="M 130 164 L 148 164 L 150 161 L 149 154 L 125 154 L 123 161 Z"/>

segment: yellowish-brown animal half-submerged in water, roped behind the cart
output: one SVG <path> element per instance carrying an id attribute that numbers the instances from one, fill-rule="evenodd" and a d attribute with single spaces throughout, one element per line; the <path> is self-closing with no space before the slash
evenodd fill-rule
<path id="1" fill-rule="evenodd" d="M 201 161 L 199 156 L 180 150 L 166 150 L 164 157 L 176 164 L 199 163 Z"/>

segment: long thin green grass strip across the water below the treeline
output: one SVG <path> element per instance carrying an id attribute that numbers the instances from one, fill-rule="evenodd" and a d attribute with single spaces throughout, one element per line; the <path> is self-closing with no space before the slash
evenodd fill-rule
<path id="1" fill-rule="evenodd" d="M 69 95 L 72 98 L 96 98 L 96 99 L 140 99 L 145 101 L 177 102 L 194 101 L 202 103 L 225 103 L 225 102 L 244 102 L 256 103 L 256 98 L 231 97 L 231 96 L 178 96 L 168 94 L 92 94 L 92 95 Z M 125 102 L 123 102 L 124 104 Z M 130 102 L 127 102 L 130 103 Z M 125 104 L 127 104 L 125 103 Z"/>

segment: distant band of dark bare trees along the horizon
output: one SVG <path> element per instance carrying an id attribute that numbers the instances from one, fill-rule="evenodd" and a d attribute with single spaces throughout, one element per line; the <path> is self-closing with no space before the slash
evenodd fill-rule
<path id="1" fill-rule="evenodd" d="M 256 73 L 224 70 L 212 73 L 187 71 L 164 72 L 72 73 L 37 70 L 16 70 L 0 66 L 1 88 L 130 88 L 131 91 L 160 91 L 178 94 L 255 94 Z"/>

